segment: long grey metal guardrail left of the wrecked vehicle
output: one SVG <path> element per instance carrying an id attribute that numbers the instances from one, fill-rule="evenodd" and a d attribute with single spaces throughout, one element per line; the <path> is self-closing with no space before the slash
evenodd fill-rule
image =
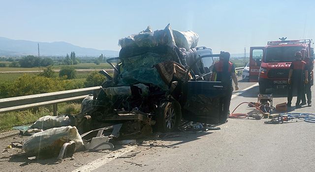
<path id="1" fill-rule="evenodd" d="M 54 115 L 58 115 L 58 103 L 84 99 L 89 94 L 92 94 L 94 91 L 99 91 L 100 89 L 101 86 L 94 86 L 43 94 L 3 98 L 0 99 L 0 113 L 53 105 Z"/>

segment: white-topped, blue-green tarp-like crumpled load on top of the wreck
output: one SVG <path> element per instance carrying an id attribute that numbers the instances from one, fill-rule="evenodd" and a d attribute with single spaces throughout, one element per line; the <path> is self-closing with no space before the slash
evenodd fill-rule
<path id="1" fill-rule="evenodd" d="M 182 65 L 185 71 L 186 57 L 195 56 L 191 49 L 197 46 L 198 34 L 192 31 L 172 30 L 168 24 L 163 30 L 152 31 L 149 27 L 138 33 L 119 40 L 122 47 L 119 57 L 120 75 L 118 86 L 134 84 L 153 84 L 168 89 L 168 84 L 160 76 L 157 64 L 165 61 Z M 190 55 L 190 56 L 189 56 Z M 185 72 L 182 72 L 185 73 Z M 168 79 L 170 81 L 170 79 Z"/>

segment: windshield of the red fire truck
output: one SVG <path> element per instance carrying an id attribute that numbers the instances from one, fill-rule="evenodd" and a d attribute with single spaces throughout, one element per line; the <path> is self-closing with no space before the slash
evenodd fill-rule
<path id="1" fill-rule="evenodd" d="M 301 51 L 303 47 L 271 47 L 266 49 L 265 62 L 289 62 L 295 59 L 295 52 Z"/>

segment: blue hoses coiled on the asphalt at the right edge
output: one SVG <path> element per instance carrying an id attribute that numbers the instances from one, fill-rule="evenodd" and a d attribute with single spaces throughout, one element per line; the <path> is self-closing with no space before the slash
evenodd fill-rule
<path id="1" fill-rule="evenodd" d="M 315 123 L 315 114 L 309 113 L 286 113 L 286 114 L 279 114 L 278 118 L 274 118 L 268 121 L 265 121 L 265 124 L 279 124 L 288 122 L 292 119 L 300 119 L 304 120 L 305 122 Z"/>

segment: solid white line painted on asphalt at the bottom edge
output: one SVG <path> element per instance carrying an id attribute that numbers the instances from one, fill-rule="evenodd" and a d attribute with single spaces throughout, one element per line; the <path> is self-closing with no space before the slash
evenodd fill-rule
<path id="1" fill-rule="evenodd" d="M 92 161 L 91 163 L 89 163 L 87 165 L 81 166 L 80 168 L 78 168 L 72 172 L 92 172 L 95 169 L 103 166 L 104 164 L 109 163 L 110 161 L 113 161 L 114 159 L 130 152 L 131 150 L 135 149 L 136 147 L 137 147 L 137 145 L 133 145 L 130 147 L 125 147 L 125 148 L 120 149 L 120 150 L 116 150 L 116 151 L 111 152 L 111 153 L 109 153 L 109 154 L 107 154 L 101 158 L 98 158 L 98 159 Z M 114 156 L 114 158 L 110 158 L 113 156 Z"/>

